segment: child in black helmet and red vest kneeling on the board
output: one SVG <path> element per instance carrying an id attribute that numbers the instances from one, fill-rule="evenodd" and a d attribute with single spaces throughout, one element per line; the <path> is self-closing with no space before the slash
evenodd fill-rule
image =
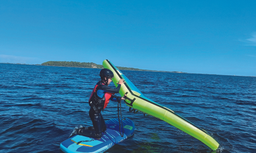
<path id="1" fill-rule="evenodd" d="M 118 87 L 113 89 L 108 86 L 109 83 L 112 82 L 112 78 L 114 77 L 114 74 L 111 70 L 104 68 L 99 72 L 99 76 L 101 77 L 101 81 L 99 81 L 95 85 L 89 99 L 89 105 L 91 107 L 89 111 L 89 116 L 91 118 L 91 121 L 93 122 L 93 127 L 76 127 L 69 137 L 79 134 L 86 137 L 101 139 L 101 132 L 104 132 L 106 130 L 105 121 L 101 115 L 101 111 L 106 108 L 109 100 L 118 101 L 118 103 L 120 103 L 121 100 L 125 100 L 124 97 L 126 95 L 124 97 L 114 96 L 115 93 L 119 93 L 121 85 L 124 82 L 123 79 L 120 79 L 118 82 Z"/>

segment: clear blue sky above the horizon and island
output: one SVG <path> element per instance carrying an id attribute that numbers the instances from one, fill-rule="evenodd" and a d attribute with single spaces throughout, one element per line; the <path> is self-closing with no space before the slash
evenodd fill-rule
<path id="1" fill-rule="evenodd" d="M 0 1 L 0 62 L 256 76 L 256 1 Z"/>

